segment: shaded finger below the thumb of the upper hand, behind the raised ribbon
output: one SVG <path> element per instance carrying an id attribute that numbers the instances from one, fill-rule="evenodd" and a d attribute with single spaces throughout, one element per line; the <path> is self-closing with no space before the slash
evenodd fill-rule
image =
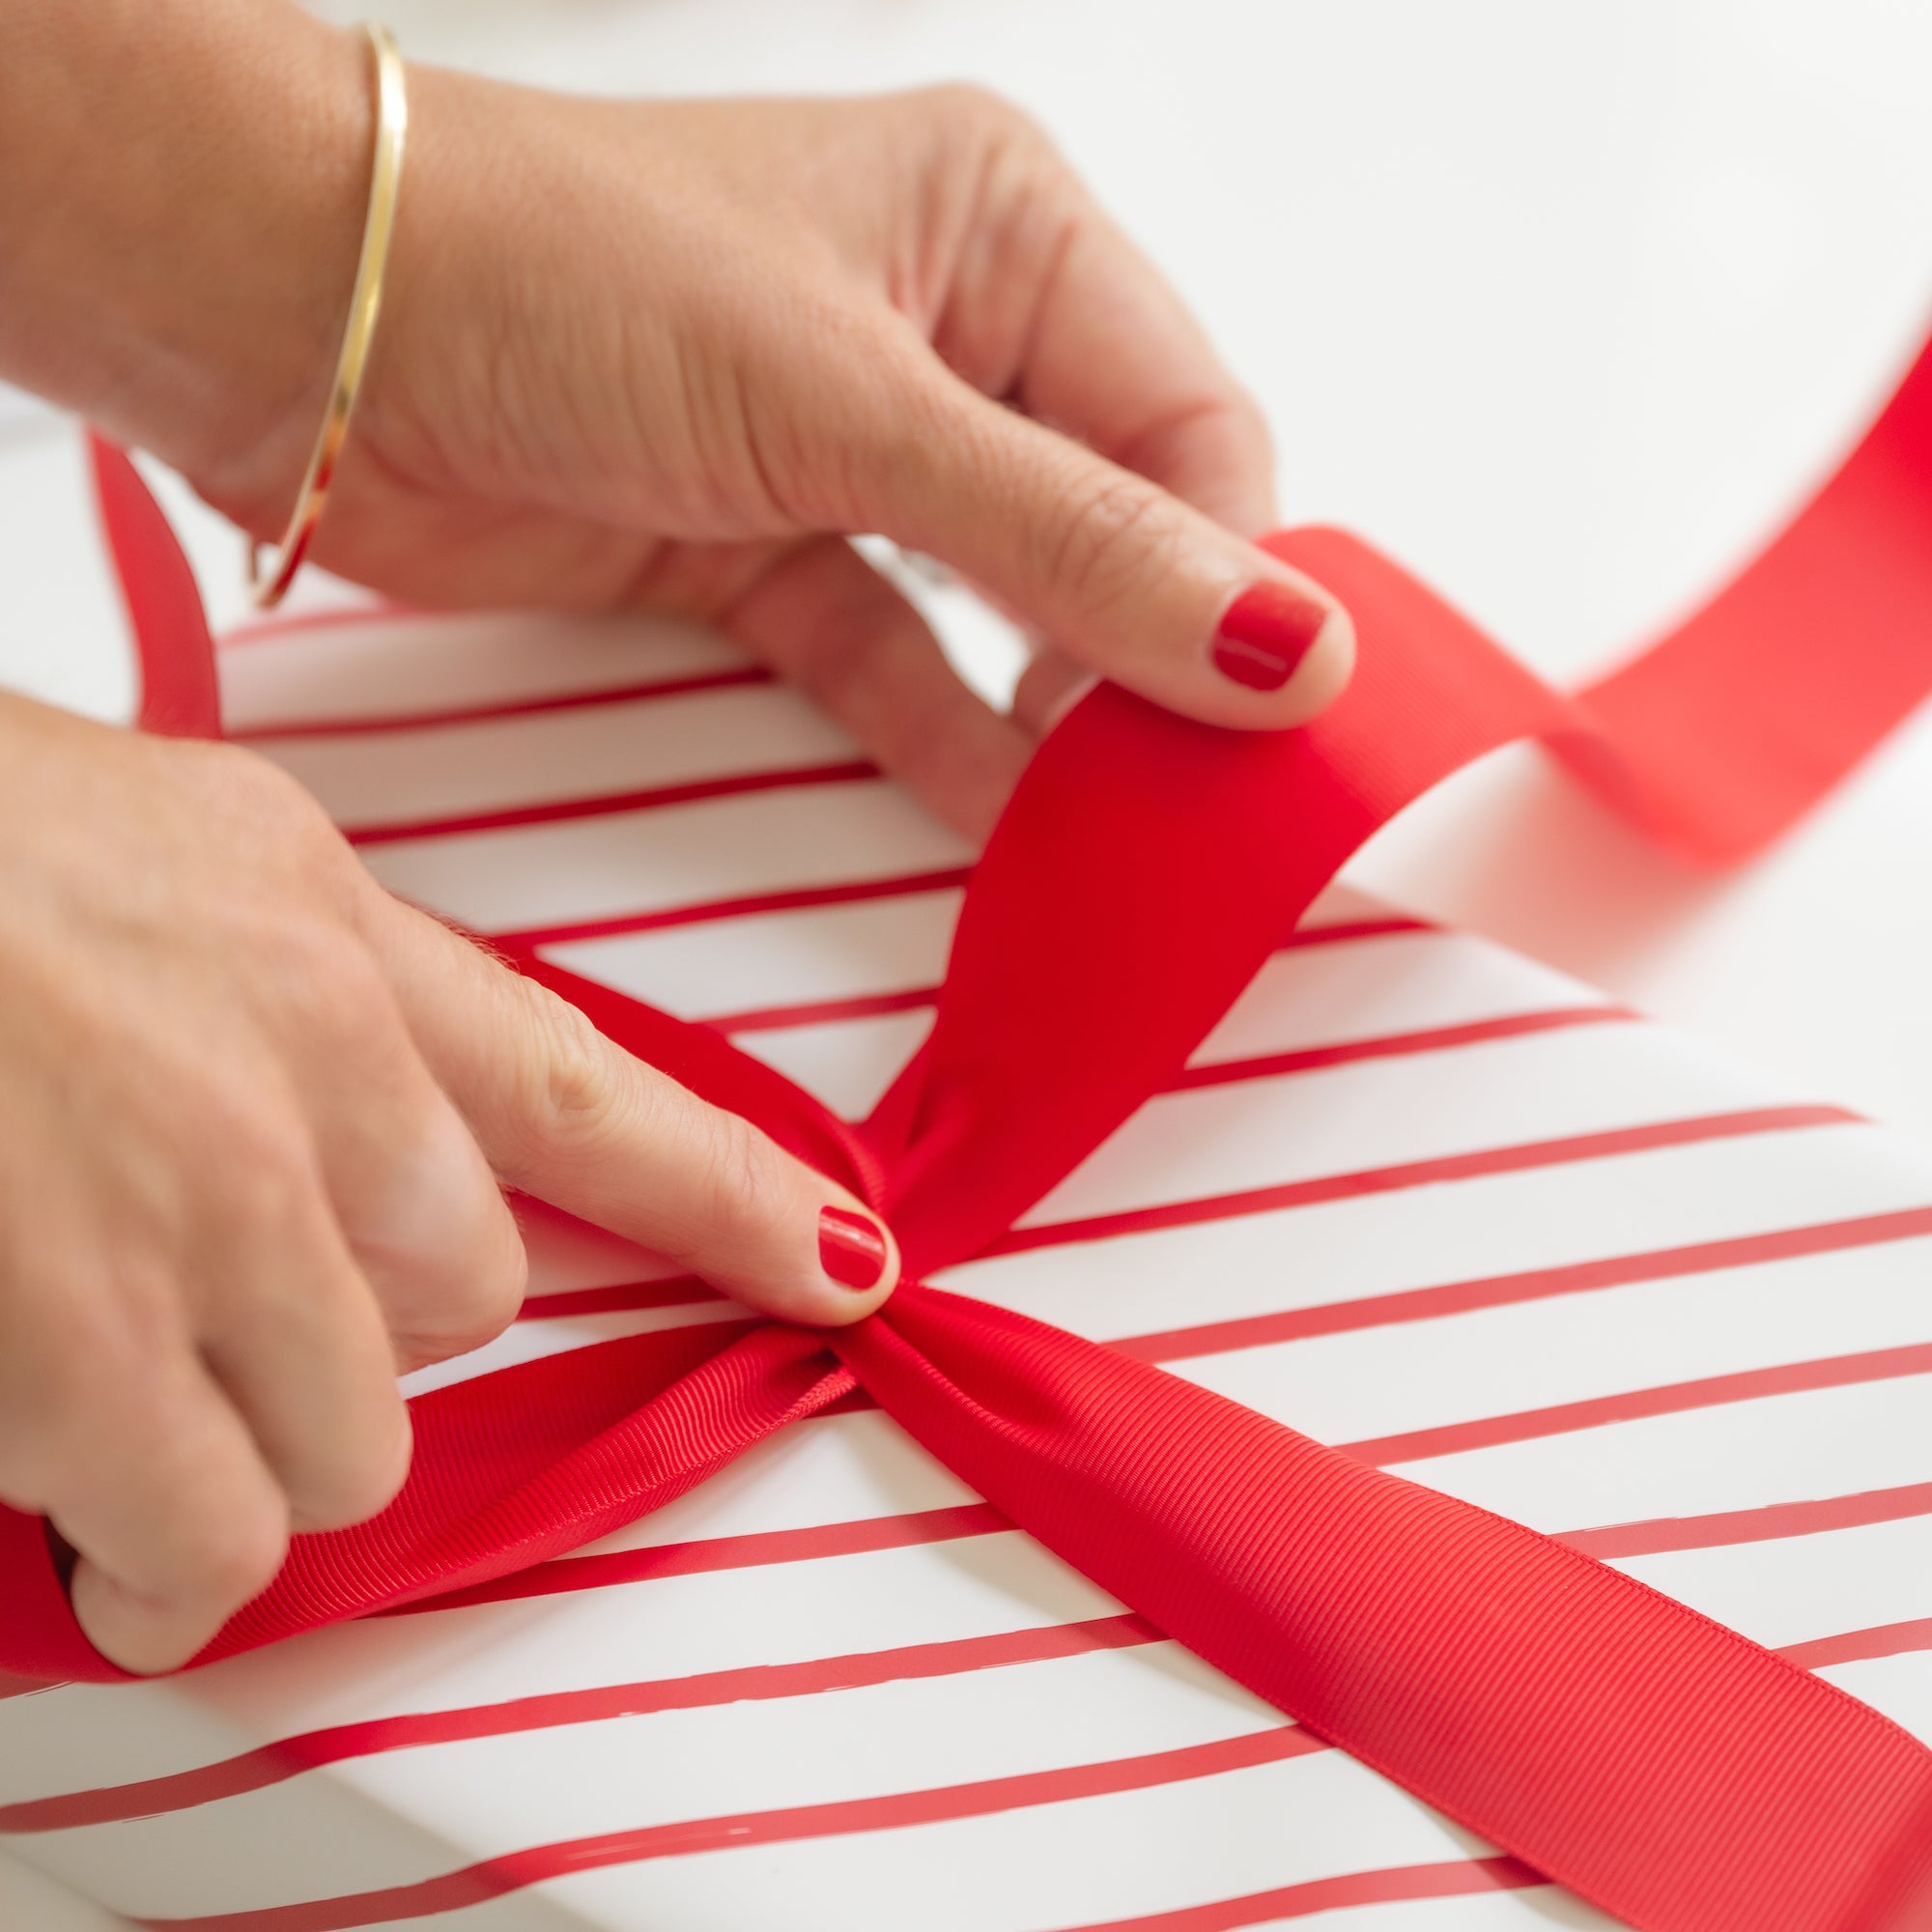
<path id="1" fill-rule="evenodd" d="M 912 605 L 842 537 L 777 554 L 724 628 L 796 684 L 939 819 L 983 840 L 1032 744 L 947 663 Z"/>

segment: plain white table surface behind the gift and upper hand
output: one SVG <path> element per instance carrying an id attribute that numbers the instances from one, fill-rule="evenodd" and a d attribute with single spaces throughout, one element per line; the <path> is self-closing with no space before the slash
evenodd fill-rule
<path id="1" fill-rule="evenodd" d="M 386 14 L 415 58 L 556 87 L 1003 89 L 1264 398 L 1287 518 L 1352 526 L 1559 680 L 1748 553 L 1932 319 L 1932 10 L 1913 0 Z M 191 549 L 234 616 L 211 524 Z M 71 437 L 4 398 L 0 558 L 0 680 L 124 715 Z M 1650 854 L 1528 752 L 1453 781 L 1350 877 L 1932 1132 L 1932 715 L 1737 879 Z M 110 1920 L 0 1861 L 0 1926 L 15 1924 Z"/>

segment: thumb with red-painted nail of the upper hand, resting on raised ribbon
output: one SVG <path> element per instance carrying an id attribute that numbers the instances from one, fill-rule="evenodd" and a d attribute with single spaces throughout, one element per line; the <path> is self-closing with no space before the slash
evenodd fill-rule
<path id="1" fill-rule="evenodd" d="M 1306 723 L 1349 682 L 1335 597 L 1159 485 L 945 371 L 891 413 L 856 479 L 866 527 L 960 570 L 1088 670 L 1248 730 Z"/>

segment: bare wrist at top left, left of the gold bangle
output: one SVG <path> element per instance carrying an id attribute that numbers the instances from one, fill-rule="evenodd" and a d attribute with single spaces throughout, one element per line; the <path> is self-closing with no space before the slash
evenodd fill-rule
<path id="1" fill-rule="evenodd" d="M 361 41 L 282 0 L 12 4 L 0 375 L 272 520 L 355 274 Z"/>

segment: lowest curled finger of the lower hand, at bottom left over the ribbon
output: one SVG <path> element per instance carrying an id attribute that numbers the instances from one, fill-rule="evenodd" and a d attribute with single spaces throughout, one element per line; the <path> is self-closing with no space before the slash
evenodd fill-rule
<path id="1" fill-rule="evenodd" d="M 185 1335 L 95 1350 L 87 1403 L 41 1443 L 44 1476 L 10 1499 L 79 1553 L 73 1613 L 122 1669 L 180 1667 L 280 1569 L 288 1499 Z"/>

